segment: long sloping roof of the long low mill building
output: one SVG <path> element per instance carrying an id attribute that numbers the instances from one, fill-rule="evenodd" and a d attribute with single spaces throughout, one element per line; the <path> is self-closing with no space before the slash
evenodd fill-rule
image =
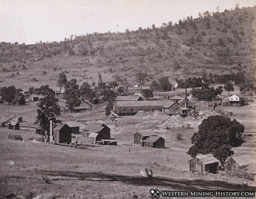
<path id="1" fill-rule="evenodd" d="M 143 107 L 143 106 L 160 106 L 163 107 L 167 101 L 153 100 L 153 101 L 117 101 L 118 107 Z"/>

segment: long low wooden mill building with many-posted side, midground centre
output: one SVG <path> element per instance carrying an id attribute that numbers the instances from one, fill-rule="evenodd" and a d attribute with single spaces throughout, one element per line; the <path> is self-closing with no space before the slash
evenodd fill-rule
<path id="1" fill-rule="evenodd" d="M 168 101 L 154 100 L 154 101 L 117 101 L 114 106 L 114 112 L 118 116 L 135 115 L 139 111 L 155 111 L 162 112 L 163 106 Z"/>

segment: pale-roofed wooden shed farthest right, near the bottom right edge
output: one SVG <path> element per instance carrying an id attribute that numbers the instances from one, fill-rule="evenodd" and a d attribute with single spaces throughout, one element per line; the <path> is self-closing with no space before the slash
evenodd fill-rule
<path id="1" fill-rule="evenodd" d="M 248 154 L 240 154 L 229 157 L 225 162 L 225 170 L 226 171 L 238 171 L 238 170 L 246 170 L 247 166 L 252 163 L 252 157 Z"/>

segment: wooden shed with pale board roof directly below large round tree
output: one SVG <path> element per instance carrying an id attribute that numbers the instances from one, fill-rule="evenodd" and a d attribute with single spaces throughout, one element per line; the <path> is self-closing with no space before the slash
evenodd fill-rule
<path id="1" fill-rule="evenodd" d="M 212 154 L 196 156 L 189 160 L 189 170 L 198 173 L 217 173 L 219 161 Z"/>

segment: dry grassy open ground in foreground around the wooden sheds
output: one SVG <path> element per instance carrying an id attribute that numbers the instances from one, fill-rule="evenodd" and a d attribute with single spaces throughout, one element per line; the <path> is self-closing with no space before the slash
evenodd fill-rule
<path id="1" fill-rule="evenodd" d="M 9 108 L 7 108 L 9 107 Z M 32 123 L 30 109 L 5 106 L 3 112 L 24 114 L 24 120 Z M 1 107 L 2 108 L 2 107 Z M 255 129 L 253 122 L 256 104 L 247 107 L 218 107 L 234 112 L 232 118 L 245 126 L 245 137 L 241 147 L 235 153 L 249 153 L 255 158 Z M 17 109 L 17 110 L 16 110 Z M 104 118 L 101 107 L 93 110 L 93 116 Z M 23 110 L 23 111 L 22 111 Z M 207 113 L 207 112 L 206 112 Z M 209 115 L 214 112 L 208 112 Z M 68 119 L 69 114 L 62 115 Z M 76 113 L 72 119 L 90 118 L 88 112 Z M 27 118 L 26 118 L 27 117 Z M 205 116 L 206 118 L 206 116 Z M 203 119 L 203 118 L 202 118 Z M 202 120 L 200 119 L 200 120 Z M 254 190 L 255 182 L 247 179 L 219 174 L 189 173 L 186 154 L 191 146 L 190 138 L 197 128 L 163 130 L 153 124 L 163 118 L 123 117 L 116 122 L 109 122 L 111 137 L 118 139 L 118 146 L 100 146 L 89 144 L 85 138 L 79 138 L 77 149 L 74 147 L 33 142 L 34 131 L 17 131 L 0 129 L 0 196 L 15 194 L 20 198 L 38 194 L 53 193 L 60 198 L 140 198 L 151 197 L 150 189 L 159 190 Z M 133 144 L 133 134 L 137 130 L 156 130 L 165 138 L 165 149 L 151 149 Z M 177 133 L 182 133 L 184 140 L 176 140 Z M 23 141 L 7 139 L 9 134 L 22 135 Z M 169 143 L 171 142 L 171 143 Z M 130 153 L 129 153 L 130 151 Z M 152 160 L 156 163 L 152 163 Z M 153 178 L 139 176 L 141 168 L 153 170 Z M 247 182 L 248 186 L 243 186 Z"/>

